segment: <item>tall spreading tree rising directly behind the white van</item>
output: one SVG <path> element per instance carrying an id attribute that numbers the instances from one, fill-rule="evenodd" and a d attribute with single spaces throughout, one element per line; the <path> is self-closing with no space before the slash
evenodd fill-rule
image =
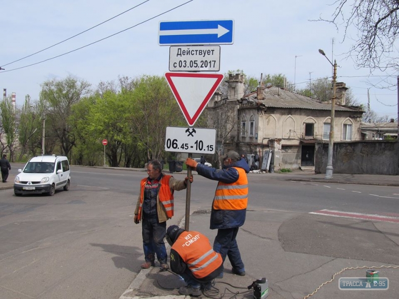
<path id="1" fill-rule="evenodd" d="M 47 106 L 46 137 L 47 132 L 53 133 L 60 146 L 60 150 L 66 156 L 75 145 L 74 135 L 68 119 L 71 115 L 71 107 L 78 103 L 80 98 L 90 92 L 90 84 L 84 80 L 78 80 L 71 76 L 63 80 L 48 80 L 42 85 L 40 98 Z M 46 148 L 47 149 L 47 148 Z M 49 152 L 49 150 L 46 150 Z"/>

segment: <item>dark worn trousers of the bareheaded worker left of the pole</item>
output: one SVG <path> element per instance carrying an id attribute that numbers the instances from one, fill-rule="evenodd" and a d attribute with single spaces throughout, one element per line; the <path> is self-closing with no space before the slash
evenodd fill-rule
<path id="1" fill-rule="evenodd" d="M 165 247 L 166 221 L 158 222 L 158 217 L 143 217 L 142 235 L 146 262 L 154 262 L 155 254 L 160 264 L 167 264 L 168 254 Z"/>

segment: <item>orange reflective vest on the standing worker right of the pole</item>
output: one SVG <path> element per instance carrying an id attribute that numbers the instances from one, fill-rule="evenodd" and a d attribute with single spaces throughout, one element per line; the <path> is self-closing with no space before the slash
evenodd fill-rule
<path id="1" fill-rule="evenodd" d="M 219 181 L 213 199 L 213 209 L 215 210 L 246 209 L 248 203 L 248 178 L 244 169 L 240 167 L 233 168 L 238 171 L 238 180 L 229 184 Z"/>

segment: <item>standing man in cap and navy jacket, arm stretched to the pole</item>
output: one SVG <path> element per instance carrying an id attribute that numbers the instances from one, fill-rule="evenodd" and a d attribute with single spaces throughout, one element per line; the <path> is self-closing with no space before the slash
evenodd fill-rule
<path id="1" fill-rule="evenodd" d="M 223 262 L 226 256 L 228 257 L 234 274 L 244 276 L 245 267 L 241 260 L 236 236 L 238 228 L 245 222 L 248 203 L 246 174 L 249 172 L 249 166 L 233 150 L 223 155 L 222 159 L 222 169 L 205 166 L 192 158 L 187 158 L 186 164 L 197 170 L 198 174 L 218 181 L 210 213 L 210 229 L 217 229 L 213 250 L 220 253 Z M 223 277 L 223 272 L 219 278 L 221 277 Z"/>

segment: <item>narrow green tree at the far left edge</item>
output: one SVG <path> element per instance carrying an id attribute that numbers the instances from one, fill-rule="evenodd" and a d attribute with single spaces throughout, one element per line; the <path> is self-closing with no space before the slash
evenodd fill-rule
<path id="1" fill-rule="evenodd" d="M 11 97 L 7 97 L 0 102 L 1 112 L 1 131 L 5 135 L 5 144 L 1 142 L 1 153 L 4 149 L 9 150 L 10 160 L 14 161 L 14 144 L 17 140 L 17 124 L 15 116 L 15 107 L 12 105 Z"/>

